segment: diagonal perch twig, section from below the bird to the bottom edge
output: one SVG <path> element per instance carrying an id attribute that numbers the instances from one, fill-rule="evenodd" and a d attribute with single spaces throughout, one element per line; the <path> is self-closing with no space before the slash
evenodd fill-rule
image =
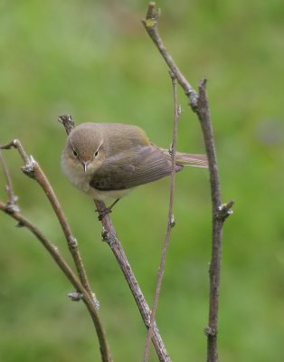
<path id="1" fill-rule="evenodd" d="M 95 204 L 97 206 L 99 213 L 104 214 L 106 205 L 96 200 Z M 123 247 L 118 239 L 118 235 L 116 233 L 114 225 L 111 222 L 109 214 L 105 214 L 101 218 L 101 224 L 103 225 L 102 238 L 105 242 L 109 244 L 111 251 L 114 253 L 118 261 L 119 267 L 123 272 L 126 281 L 128 282 L 130 291 L 132 292 L 132 295 L 137 303 L 137 307 L 141 314 L 141 317 L 148 329 L 150 326 L 151 311 L 147 304 L 147 300 L 145 299 L 143 292 L 141 291 L 138 285 L 137 279 L 131 269 L 126 253 L 124 252 Z M 152 325 L 153 325 L 152 341 L 156 349 L 156 354 L 160 361 L 170 362 L 171 358 L 169 357 L 166 351 L 166 346 L 163 342 L 163 339 L 161 338 L 155 320 L 153 321 Z"/>

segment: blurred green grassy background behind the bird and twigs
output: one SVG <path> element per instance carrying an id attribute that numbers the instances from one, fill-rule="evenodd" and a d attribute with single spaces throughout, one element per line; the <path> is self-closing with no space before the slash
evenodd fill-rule
<path id="1" fill-rule="evenodd" d="M 225 224 L 220 359 L 284 358 L 283 93 L 284 7 L 280 0 L 161 1 L 160 33 L 197 89 L 204 76 L 222 195 L 234 199 Z M 91 200 L 62 175 L 65 133 L 58 115 L 136 124 L 168 147 L 173 96 L 166 64 L 140 19 L 147 1 L 0 1 L 0 143 L 20 138 L 42 165 L 64 208 L 100 301 L 116 361 L 139 361 L 146 329 Z M 204 152 L 194 114 L 179 91 L 178 148 Z M 24 215 L 66 245 L 43 192 L 5 152 Z M 5 200 L 5 179 L 0 174 Z M 137 280 L 151 303 L 166 233 L 169 180 L 137 188 L 112 214 Z M 204 361 L 211 204 L 205 170 L 178 174 L 176 227 L 157 314 L 175 361 Z M 82 303 L 43 247 L 0 214 L 0 360 L 99 361 Z M 69 258 L 69 256 L 67 256 Z M 69 258 L 70 259 L 70 258 Z M 151 360 L 156 361 L 155 354 Z"/>

